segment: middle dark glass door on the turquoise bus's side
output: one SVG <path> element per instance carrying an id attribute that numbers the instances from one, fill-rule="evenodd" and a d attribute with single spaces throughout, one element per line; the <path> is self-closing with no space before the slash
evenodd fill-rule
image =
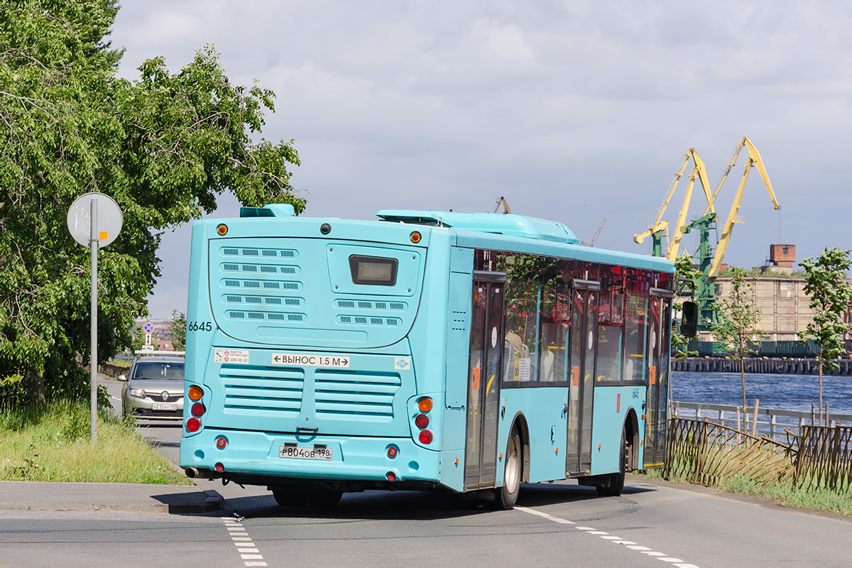
<path id="1" fill-rule="evenodd" d="M 571 290 L 566 476 L 587 475 L 591 469 L 591 410 L 595 400 L 599 290 L 601 284 L 590 280 L 574 280 Z"/>

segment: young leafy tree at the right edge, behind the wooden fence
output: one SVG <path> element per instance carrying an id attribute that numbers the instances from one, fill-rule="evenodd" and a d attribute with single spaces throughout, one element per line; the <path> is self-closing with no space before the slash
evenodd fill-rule
<path id="1" fill-rule="evenodd" d="M 835 359 L 843 353 L 843 334 L 849 324 L 843 314 L 849 311 L 852 289 L 846 282 L 849 270 L 849 250 L 829 249 L 814 260 L 812 256 L 800 262 L 805 270 L 804 292 L 810 296 L 809 307 L 814 310 L 814 322 L 797 331 L 803 342 L 813 341 L 820 375 L 820 426 L 823 423 L 822 373 L 837 370 Z"/>

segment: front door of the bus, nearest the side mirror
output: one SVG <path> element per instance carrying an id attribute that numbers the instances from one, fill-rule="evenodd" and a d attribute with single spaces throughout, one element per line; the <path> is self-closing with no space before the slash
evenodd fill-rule
<path id="1" fill-rule="evenodd" d="M 665 464 L 665 433 L 669 404 L 669 341 L 671 340 L 671 291 L 652 288 L 648 306 L 648 396 L 645 414 L 646 468 Z"/>

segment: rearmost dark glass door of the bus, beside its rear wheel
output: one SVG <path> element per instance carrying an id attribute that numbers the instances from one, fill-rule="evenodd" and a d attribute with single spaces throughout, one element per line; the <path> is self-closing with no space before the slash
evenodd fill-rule
<path id="1" fill-rule="evenodd" d="M 497 426 L 503 376 L 506 273 L 474 272 L 468 364 L 464 487 L 492 487 L 497 479 Z"/>

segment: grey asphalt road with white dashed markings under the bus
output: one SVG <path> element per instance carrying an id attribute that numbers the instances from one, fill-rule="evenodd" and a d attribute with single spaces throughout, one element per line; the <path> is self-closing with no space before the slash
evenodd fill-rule
<path id="1" fill-rule="evenodd" d="M 181 428 L 141 426 L 176 461 Z M 849 566 L 849 519 L 630 476 L 600 497 L 524 485 L 512 511 L 417 492 L 283 508 L 263 487 L 199 482 L 226 510 L 198 515 L 0 510 L 0 565 Z M 240 522 L 237 519 L 242 517 Z"/>

